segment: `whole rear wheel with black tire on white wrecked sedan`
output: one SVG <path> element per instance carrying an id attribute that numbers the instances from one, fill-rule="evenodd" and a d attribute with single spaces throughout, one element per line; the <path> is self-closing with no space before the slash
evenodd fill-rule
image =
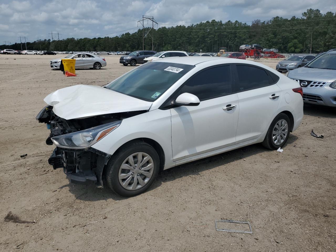
<path id="1" fill-rule="evenodd" d="M 284 113 L 280 113 L 269 125 L 262 145 L 270 150 L 281 148 L 288 140 L 290 129 L 291 122 L 289 117 Z"/>

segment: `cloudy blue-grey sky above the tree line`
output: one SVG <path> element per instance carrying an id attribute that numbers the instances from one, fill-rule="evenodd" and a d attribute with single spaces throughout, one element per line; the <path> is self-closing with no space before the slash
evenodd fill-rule
<path id="1" fill-rule="evenodd" d="M 336 11 L 335 0 L 0 0 L 0 44 L 74 37 L 116 36 L 135 32 L 142 15 L 154 16 L 161 26 L 196 24 L 206 20 L 251 21 L 274 16 L 301 16 L 308 8 Z M 167 25 L 164 25 L 167 24 Z M 250 22 L 248 22 L 250 24 Z M 56 37 L 57 38 L 57 37 Z M 55 39 L 55 37 L 54 37 Z"/>

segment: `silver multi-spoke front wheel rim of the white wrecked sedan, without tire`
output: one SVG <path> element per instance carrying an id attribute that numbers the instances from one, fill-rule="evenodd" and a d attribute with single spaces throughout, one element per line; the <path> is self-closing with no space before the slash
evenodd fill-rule
<path id="1" fill-rule="evenodd" d="M 154 172 L 154 162 L 150 155 L 137 152 L 128 156 L 119 169 L 119 182 L 126 190 L 137 190 L 147 184 Z"/>

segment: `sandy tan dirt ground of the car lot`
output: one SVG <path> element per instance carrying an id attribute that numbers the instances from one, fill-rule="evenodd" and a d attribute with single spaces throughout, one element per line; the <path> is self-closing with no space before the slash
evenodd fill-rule
<path id="1" fill-rule="evenodd" d="M 50 69 L 55 57 L 0 55 L 0 251 L 336 251 L 335 109 L 305 105 L 283 153 L 248 146 L 163 171 L 148 192 L 122 198 L 53 170 L 35 116 L 50 92 L 103 86 L 131 67 L 105 56 L 106 68 L 66 78 Z M 5 222 L 9 211 L 36 223 Z M 216 231 L 221 218 L 250 221 L 253 234 Z"/>

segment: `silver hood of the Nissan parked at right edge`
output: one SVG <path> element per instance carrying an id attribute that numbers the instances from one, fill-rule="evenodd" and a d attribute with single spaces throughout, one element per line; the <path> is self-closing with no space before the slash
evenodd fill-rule
<path id="1" fill-rule="evenodd" d="M 336 71 L 303 67 L 291 70 L 288 74 L 288 78 L 305 81 L 333 82 L 336 80 Z"/>

